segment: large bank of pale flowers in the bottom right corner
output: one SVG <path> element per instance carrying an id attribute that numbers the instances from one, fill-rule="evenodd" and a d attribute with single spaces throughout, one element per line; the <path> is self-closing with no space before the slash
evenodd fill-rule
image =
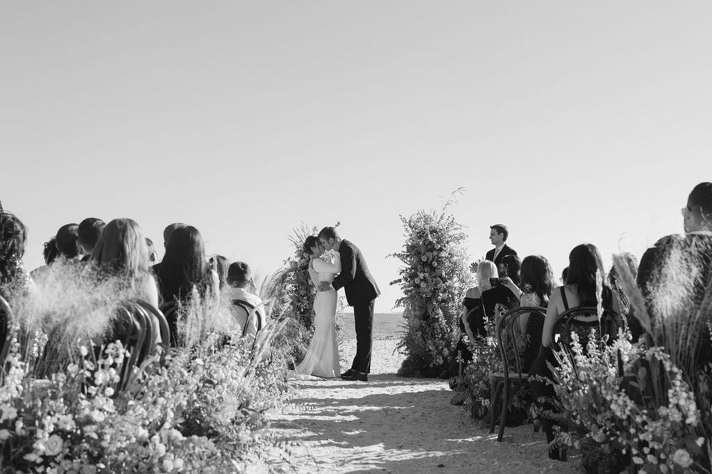
<path id="1" fill-rule="evenodd" d="M 705 467 L 706 438 L 694 393 L 664 348 L 636 348 L 624 333 L 612 345 L 594 337 L 583 350 L 556 353 L 555 392 L 568 426 L 558 441 L 582 448 L 584 468 L 648 473 Z M 628 374 L 628 375 L 627 375 Z"/>

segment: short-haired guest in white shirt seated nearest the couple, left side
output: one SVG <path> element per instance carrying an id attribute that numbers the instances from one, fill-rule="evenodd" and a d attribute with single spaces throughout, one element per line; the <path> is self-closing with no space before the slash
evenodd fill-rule
<path id="1" fill-rule="evenodd" d="M 246 288 L 251 284 L 252 271 L 245 262 L 234 262 L 229 266 L 227 284 L 230 286 L 230 300 L 242 336 L 254 341 L 266 323 L 264 307 L 259 296 L 249 293 Z"/>

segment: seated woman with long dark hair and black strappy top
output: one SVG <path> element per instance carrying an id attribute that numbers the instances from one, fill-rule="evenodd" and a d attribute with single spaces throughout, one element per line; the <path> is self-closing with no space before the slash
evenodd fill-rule
<path id="1" fill-rule="evenodd" d="M 609 335 L 610 342 L 615 338 L 619 323 L 617 320 L 618 301 L 613 297 L 612 290 L 604 281 L 604 273 L 601 254 L 595 245 L 581 244 L 572 249 L 569 255 L 567 282 L 565 286 L 560 286 L 551 294 L 544 321 L 542 350 L 532 365 L 530 375 L 552 378 L 549 364 L 556 365 L 552 350 L 554 326 L 559 315 L 570 308 L 598 306 L 599 301 L 604 308 L 602 316 L 597 314 L 582 315 L 572 321 L 570 328 L 579 336 L 582 347 L 586 347 L 592 329 L 596 330 L 600 337 Z M 597 281 L 601 282 L 601 288 L 597 287 Z M 568 344 L 570 340 L 570 335 L 561 334 L 559 345 Z M 532 380 L 530 388 L 537 401 L 540 400 L 540 397 L 555 397 L 554 389 L 550 384 Z M 542 406 L 540 409 L 542 413 L 545 410 L 553 411 L 554 409 L 554 406 L 549 404 L 540 404 L 540 406 Z M 543 416 L 542 422 L 547 441 L 551 443 L 554 439 L 553 420 Z M 560 454 L 557 450 L 550 449 L 549 457 L 559 459 Z"/>

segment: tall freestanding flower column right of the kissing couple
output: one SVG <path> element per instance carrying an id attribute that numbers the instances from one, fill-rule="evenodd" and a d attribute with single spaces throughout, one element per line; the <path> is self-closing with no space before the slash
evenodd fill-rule
<path id="1" fill-rule="evenodd" d="M 461 331 L 462 297 L 471 284 L 464 249 L 466 235 L 449 208 L 440 212 L 419 210 L 401 217 L 406 242 L 401 252 L 390 257 L 403 266 L 399 285 L 405 330 L 398 348 L 407 355 L 398 375 L 437 377 L 453 355 Z"/>

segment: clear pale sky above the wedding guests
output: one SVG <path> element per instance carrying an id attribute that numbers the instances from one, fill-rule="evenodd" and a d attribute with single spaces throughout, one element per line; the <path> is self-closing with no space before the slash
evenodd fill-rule
<path id="1" fill-rule="evenodd" d="M 706 1 L 0 3 L 0 200 L 25 262 L 68 222 L 169 222 L 276 271 L 341 222 L 382 296 L 400 215 L 451 207 L 559 274 L 642 255 L 712 181 Z M 162 254 L 162 252 L 161 252 Z"/>

